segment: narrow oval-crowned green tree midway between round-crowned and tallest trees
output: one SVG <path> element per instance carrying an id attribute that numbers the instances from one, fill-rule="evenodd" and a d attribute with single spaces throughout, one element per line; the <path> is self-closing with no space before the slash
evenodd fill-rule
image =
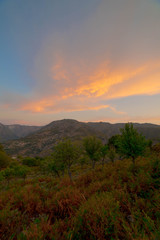
<path id="1" fill-rule="evenodd" d="M 85 137 L 83 146 L 89 159 L 92 161 L 92 168 L 94 169 L 96 161 L 101 157 L 102 142 L 95 136 Z"/>

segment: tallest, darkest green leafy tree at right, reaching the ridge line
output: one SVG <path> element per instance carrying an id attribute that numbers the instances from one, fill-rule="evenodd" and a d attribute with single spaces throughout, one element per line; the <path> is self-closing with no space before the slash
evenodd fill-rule
<path id="1" fill-rule="evenodd" d="M 133 163 L 135 163 L 135 159 L 143 155 L 146 145 L 145 137 L 133 128 L 133 124 L 125 124 L 125 127 L 121 129 L 121 136 L 118 142 L 119 152 L 123 156 L 131 158 Z"/>

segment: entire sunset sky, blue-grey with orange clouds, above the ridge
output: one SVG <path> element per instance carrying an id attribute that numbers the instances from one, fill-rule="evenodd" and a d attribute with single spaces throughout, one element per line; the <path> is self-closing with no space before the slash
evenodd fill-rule
<path id="1" fill-rule="evenodd" d="M 0 0 L 0 122 L 160 124 L 160 0 Z"/>

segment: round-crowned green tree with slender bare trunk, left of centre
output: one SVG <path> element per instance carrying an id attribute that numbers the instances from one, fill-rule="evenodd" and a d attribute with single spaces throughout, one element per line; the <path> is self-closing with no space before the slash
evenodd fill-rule
<path id="1" fill-rule="evenodd" d="M 78 147 L 70 139 L 59 142 L 53 152 L 54 160 L 67 168 L 68 175 L 72 182 L 71 166 L 79 156 Z"/>

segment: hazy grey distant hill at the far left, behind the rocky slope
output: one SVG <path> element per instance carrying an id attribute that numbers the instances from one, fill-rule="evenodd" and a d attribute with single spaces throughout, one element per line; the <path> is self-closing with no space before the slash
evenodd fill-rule
<path id="1" fill-rule="evenodd" d="M 4 125 L 0 123 L 0 142 L 25 137 L 39 130 L 37 126 L 25 126 L 19 124 Z"/>

